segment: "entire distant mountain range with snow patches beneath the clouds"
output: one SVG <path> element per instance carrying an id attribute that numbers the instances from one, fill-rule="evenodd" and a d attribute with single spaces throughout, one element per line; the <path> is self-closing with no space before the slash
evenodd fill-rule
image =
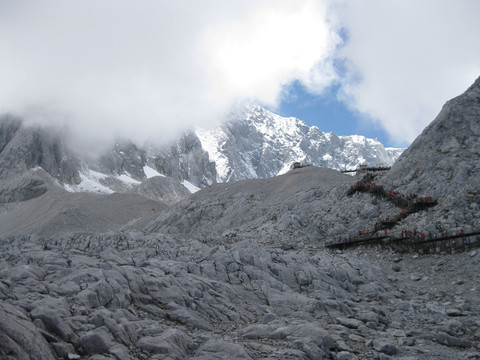
<path id="1" fill-rule="evenodd" d="M 154 176 L 166 176 L 193 192 L 216 182 L 280 175 L 294 162 L 337 170 L 363 163 L 391 165 L 402 151 L 385 149 L 377 140 L 359 135 L 324 133 L 299 119 L 251 106 L 232 113 L 217 128 L 187 132 L 169 145 L 138 146 L 123 139 L 97 158 L 84 159 L 69 149 L 55 129 L 26 128 L 20 119 L 4 116 L 0 119 L 0 198 L 6 193 L 3 188 L 9 189 L 9 199 L 11 189 L 17 194 L 8 201 L 42 193 L 45 179 L 39 178 L 38 170 L 49 176 L 48 182 L 69 192 L 135 192 Z M 170 180 L 162 184 L 165 189 L 172 186 Z M 158 181 L 151 191 L 142 189 L 142 193 L 152 194 L 153 188 L 158 192 Z M 179 189 L 175 192 L 182 194 Z M 158 193 L 163 200 L 173 201 L 165 198 L 166 190 Z"/>

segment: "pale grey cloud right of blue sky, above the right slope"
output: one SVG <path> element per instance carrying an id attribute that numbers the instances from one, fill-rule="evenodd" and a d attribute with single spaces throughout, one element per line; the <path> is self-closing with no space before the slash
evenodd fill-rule
<path id="1" fill-rule="evenodd" d="M 348 1 L 336 10 L 347 33 L 340 97 L 397 144 L 480 75 L 476 0 Z"/>

